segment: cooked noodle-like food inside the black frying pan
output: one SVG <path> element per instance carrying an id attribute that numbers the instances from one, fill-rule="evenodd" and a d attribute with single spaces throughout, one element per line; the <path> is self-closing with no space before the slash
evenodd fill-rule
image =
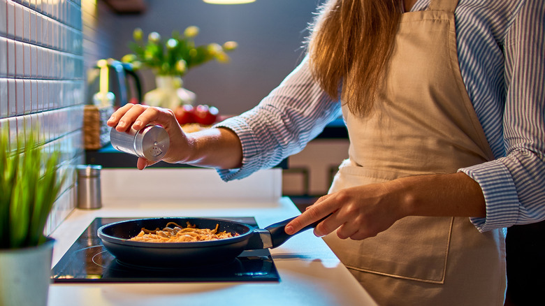
<path id="1" fill-rule="evenodd" d="M 174 226 L 170 228 L 168 226 Z M 175 222 L 168 222 L 162 230 L 159 228 L 153 231 L 142 228 L 142 231 L 135 237 L 129 239 L 133 241 L 142 242 L 196 242 L 205 240 L 218 240 L 233 237 L 233 234 L 226 231 L 218 232 L 219 224 L 216 224 L 216 228 L 196 228 L 196 225 L 191 225 L 187 222 L 187 227 L 175 224 Z M 235 234 L 238 236 L 238 234 Z"/>

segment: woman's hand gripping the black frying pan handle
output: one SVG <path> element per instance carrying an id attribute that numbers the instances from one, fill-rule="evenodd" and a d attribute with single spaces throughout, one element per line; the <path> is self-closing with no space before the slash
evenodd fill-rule
<path id="1" fill-rule="evenodd" d="M 341 239 L 374 237 L 405 217 L 398 209 L 396 197 L 388 191 L 386 183 L 342 189 L 322 196 L 307 207 L 303 214 L 286 225 L 286 233 L 296 233 L 307 224 L 331 214 L 314 228 L 314 235 L 328 235 L 338 228 L 337 236 Z"/>

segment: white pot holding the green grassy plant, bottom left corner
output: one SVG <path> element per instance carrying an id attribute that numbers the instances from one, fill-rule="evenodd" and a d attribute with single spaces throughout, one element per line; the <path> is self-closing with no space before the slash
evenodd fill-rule
<path id="1" fill-rule="evenodd" d="M 0 305 L 45 306 L 54 240 L 38 247 L 0 249 Z"/>

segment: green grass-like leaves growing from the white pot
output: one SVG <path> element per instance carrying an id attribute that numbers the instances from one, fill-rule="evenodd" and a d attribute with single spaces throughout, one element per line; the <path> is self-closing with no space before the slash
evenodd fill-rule
<path id="1" fill-rule="evenodd" d="M 35 246 L 45 241 L 45 223 L 65 177 L 58 174 L 58 148 L 51 156 L 45 156 L 37 135 L 34 130 L 26 143 L 24 135 L 18 136 L 17 151 L 10 152 L 7 129 L 1 129 L 0 249 Z"/>

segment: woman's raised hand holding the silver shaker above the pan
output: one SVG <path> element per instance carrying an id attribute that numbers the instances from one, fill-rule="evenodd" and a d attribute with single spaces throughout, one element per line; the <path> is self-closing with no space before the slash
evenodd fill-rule
<path id="1" fill-rule="evenodd" d="M 140 130 L 147 124 L 161 125 L 170 138 L 170 145 L 163 157 L 163 161 L 177 163 L 189 159 L 189 154 L 184 154 L 184 152 L 190 152 L 189 140 L 182 131 L 180 124 L 178 124 L 172 110 L 128 103 L 116 110 L 110 119 L 108 119 L 107 124 L 120 132 L 131 129 L 131 126 L 133 129 Z M 136 166 L 142 170 L 153 163 L 157 163 L 157 161 L 148 161 L 139 157 Z"/>

